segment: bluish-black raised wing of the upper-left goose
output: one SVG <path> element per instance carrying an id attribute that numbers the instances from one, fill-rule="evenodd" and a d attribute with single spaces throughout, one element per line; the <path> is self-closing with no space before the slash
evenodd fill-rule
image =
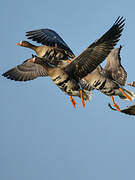
<path id="1" fill-rule="evenodd" d="M 74 57 L 74 53 L 65 43 L 65 41 L 53 30 L 51 29 L 38 29 L 26 32 L 28 39 L 32 39 L 37 43 L 41 43 L 46 46 L 59 47 L 67 51 L 69 57 Z"/>

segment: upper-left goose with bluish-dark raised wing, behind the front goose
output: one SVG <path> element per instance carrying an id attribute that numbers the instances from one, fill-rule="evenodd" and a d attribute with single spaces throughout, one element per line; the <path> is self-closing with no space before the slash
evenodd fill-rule
<path id="1" fill-rule="evenodd" d="M 19 46 L 34 50 L 38 57 L 44 57 L 49 63 L 57 64 L 56 61 L 64 61 L 74 58 L 75 55 L 65 41 L 51 29 L 39 29 L 26 33 L 28 39 L 32 39 L 41 46 L 36 46 L 28 41 L 20 41 L 16 43 Z"/>

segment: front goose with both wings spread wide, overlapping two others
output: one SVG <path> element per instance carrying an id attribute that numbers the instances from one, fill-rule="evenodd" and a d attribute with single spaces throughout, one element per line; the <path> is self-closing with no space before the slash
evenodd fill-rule
<path id="1" fill-rule="evenodd" d="M 82 89 L 79 81 L 96 69 L 96 67 L 108 56 L 110 51 L 119 41 L 123 31 L 124 21 L 123 17 L 118 17 L 113 26 L 100 39 L 93 42 L 80 55 L 73 58 L 68 65 L 53 66 L 48 63 L 45 58 L 39 57 L 34 57 L 30 61 L 32 61 L 33 64 L 40 61 L 40 65 L 42 65 L 53 82 L 70 96 L 73 106 L 75 107 L 76 102 L 71 96 L 78 96 L 81 98 L 84 107 L 84 100 L 89 99 L 89 94 L 87 90 Z M 22 65 L 24 66 L 24 64 Z M 19 66 L 19 69 L 21 69 L 20 67 L 22 65 Z M 20 75 L 24 76 L 25 73 L 27 74 L 27 68 L 21 72 Z M 18 68 L 13 68 L 4 73 L 3 76 L 16 81 L 20 80 L 18 76 L 16 77 L 16 74 L 18 74 Z M 22 80 L 24 79 L 21 79 L 21 81 Z"/>

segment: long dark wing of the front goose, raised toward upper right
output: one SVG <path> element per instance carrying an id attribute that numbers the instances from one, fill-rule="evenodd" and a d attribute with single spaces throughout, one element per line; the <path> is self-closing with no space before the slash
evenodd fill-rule
<path id="1" fill-rule="evenodd" d="M 83 53 L 66 66 L 65 71 L 75 79 L 82 79 L 91 73 L 110 53 L 119 41 L 124 27 L 123 17 L 118 17 L 113 26 Z"/>

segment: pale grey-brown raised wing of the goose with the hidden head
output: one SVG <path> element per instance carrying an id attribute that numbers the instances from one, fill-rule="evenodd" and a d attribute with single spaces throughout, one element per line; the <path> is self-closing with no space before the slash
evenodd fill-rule
<path id="1" fill-rule="evenodd" d="M 121 48 L 122 46 L 115 48 L 110 52 L 106 58 L 107 63 L 103 71 L 108 77 L 124 86 L 127 80 L 127 72 L 121 65 Z"/>

